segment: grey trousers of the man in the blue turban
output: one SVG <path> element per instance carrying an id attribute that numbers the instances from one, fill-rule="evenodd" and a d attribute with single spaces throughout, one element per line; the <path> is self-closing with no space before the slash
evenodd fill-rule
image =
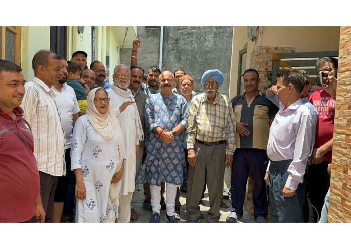
<path id="1" fill-rule="evenodd" d="M 188 188 L 187 188 L 187 219 L 197 220 L 200 217 L 199 202 L 205 180 L 207 179 L 210 209 L 207 213 L 208 222 L 218 222 L 220 218 L 220 204 L 223 196 L 223 181 L 225 170 L 225 143 L 206 146 L 195 143 L 196 164 L 189 165 Z"/>

